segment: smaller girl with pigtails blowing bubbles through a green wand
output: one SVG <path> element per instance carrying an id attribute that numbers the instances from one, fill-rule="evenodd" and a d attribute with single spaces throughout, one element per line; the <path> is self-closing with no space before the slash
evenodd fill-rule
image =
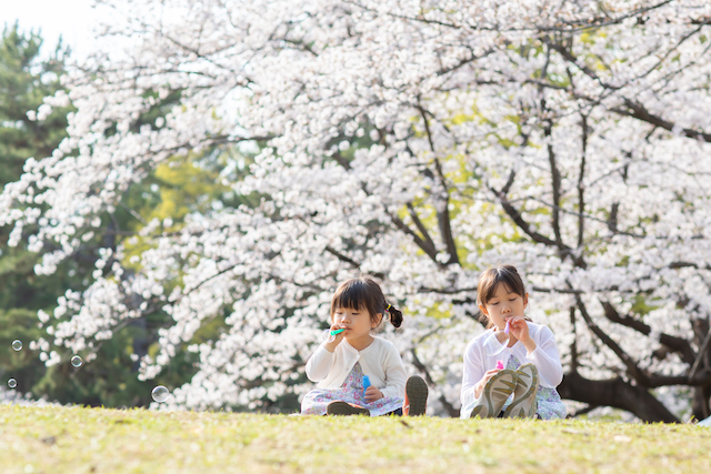
<path id="1" fill-rule="evenodd" d="M 309 415 L 423 415 L 427 385 L 414 375 L 405 383 L 395 346 L 372 335 L 383 316 L 400 327 L 402 312 L 388 304 L 371 278 L 342 283 L 331 300 L 331 331 L 344 330 L 324 341 L 307 362 L 307 376 L 318 382 L 301 402 Z M 363 375 L 370 386 L 363 390 Z M 404 401 L 404 404 L 403 404 Z"/>

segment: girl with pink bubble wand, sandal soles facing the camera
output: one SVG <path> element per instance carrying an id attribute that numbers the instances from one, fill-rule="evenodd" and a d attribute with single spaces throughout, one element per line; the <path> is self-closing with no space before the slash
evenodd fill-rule
<path id="1" fill-rule="evenodd" d="M 523 311 L 529 302 L 523 281 L 512 265 L 483 272 L 477 302 L 488 319 L 488 330 L 464 351 L 461 417 L 565 417 L 555 387 L 563 369 L 550 329 L 534 324 Z M 492 354 L 487 339 L 509 325 L 510 341 Z"/>

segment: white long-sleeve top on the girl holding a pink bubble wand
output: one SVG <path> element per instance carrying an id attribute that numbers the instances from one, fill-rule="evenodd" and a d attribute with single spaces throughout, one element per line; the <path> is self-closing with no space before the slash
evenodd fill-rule
<path id="1" fill-rule="evenodd" d="M 538 369 L 541 386 L 554 389 L 563 380 L 563 367 L 560 363 L 558 346 L 553 332 L 548 326 L 528 322 L 529 334 L 535 342 L 535 350 L 529 354 L 521 341 L 517 341 L 511 347 L 507 347 L 497 355 L 488 355 L 483 349 L 487 337 L 493 329 L 484 331 L 467 344 L 464 350 L 464 374 L 462 376 L 462 406 L 467 406 L 477 400 L 474 385 L 484 376 L 487 371 L 497 367 L 497 361 L 503 361 L 505 367 L 511 355 L 525 364 L 532 362 Z"/>

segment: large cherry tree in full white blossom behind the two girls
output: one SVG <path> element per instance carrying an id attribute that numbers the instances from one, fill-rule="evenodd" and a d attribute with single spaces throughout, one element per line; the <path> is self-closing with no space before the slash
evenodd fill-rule
<path id="1" fill-rule="evenodd" d="M 70 137 L 6 186 L 0 224 L 52 273 L 159 165 L 217 163 L 250 200 L 104 249 L 40 314 L 48 364 L 160 312 L 140 377 L 199 355 L 170 406 L 267 407 L 310 389 L 331 292 L 364 272 L 405 310 L 385 336 L 432 412 L 455 415 L 477 279 L 505 261 L 581 412 L 709 415 L 707 1 L 101 3 L 111 41 L 30 112 L 71 102 Z"/>

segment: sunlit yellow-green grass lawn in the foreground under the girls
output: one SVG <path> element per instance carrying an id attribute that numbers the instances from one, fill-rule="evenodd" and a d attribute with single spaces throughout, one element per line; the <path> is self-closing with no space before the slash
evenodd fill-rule
<path id="1" fill-rule="evenodd" d="M 711 430 L 0 406 L 3 473 L 708 472 Z"/>

